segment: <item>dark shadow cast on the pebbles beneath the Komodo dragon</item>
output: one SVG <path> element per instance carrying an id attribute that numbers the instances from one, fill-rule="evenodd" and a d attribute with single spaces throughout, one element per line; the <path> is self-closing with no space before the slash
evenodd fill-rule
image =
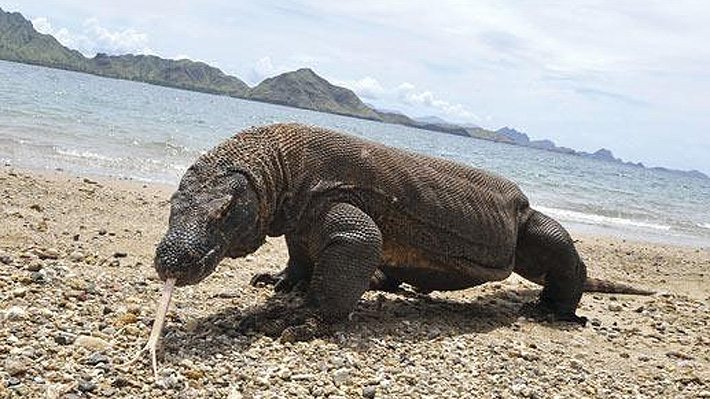
<path id="1" fill-rule="evenodd" d="M 472 299 L 450 300 L 431 298 L 411 291 L 396 296 L 368 294 L 352 315 L 352 320 L 335 327 L 334 333 L 323 339 L 348 342 L 366 350 L 372 338 L 387 337 L 388 341 L 411 342 L 459 334 L 480 334 L 500 327 L 517 328 L 515 322 L 533 303 L 539 289 L 499 289 Z M 372 298 L 372 299 L 370 299 Z M 293 308 L 282 295 L 274 295 L 265 303 L 250 307 L 227 307 L 198 319 L 194 330 L 185 325 L 166 329 L 165 353 L 179 356 L 211 358 L 234 350 L 246 351 L 264 335 L 272 334 L 269 323 L 253 328 L 256 321 L 273 321 L 278 314 L 292 314 Z M 276 316 L 278 318 L 278 316 Z M 278 323 L 276 323 L 278 324 Z M 573 328 L 566 323 L 552 323 L 552 328 Z M 275 338 L 277 339 L 277 338 Z"/>

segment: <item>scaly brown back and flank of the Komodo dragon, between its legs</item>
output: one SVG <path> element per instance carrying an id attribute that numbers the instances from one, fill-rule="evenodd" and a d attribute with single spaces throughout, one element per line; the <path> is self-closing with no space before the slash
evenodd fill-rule
<path id="1" fill-rule="evenodd" d="M 293 196 L 353 203 L 385 246 L 508 268 L 527 198 L 511 181 L 453 161 L 304 125 L 276 125 Z M 296 201 L 298 202 L 298 201 Z"/>

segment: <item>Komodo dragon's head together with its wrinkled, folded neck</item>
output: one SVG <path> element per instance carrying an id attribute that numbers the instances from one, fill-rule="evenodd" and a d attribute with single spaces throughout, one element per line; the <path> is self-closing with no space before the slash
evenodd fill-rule
<path id="1" fill-rule="evenodd" d="M 240 134 L 202 155 L 171 198 L 155 268 L 178 286 L 197 284 L 225 257 L 256 251 L 274 228 L 284 193 L 281 154 L 257 134 Z"/>

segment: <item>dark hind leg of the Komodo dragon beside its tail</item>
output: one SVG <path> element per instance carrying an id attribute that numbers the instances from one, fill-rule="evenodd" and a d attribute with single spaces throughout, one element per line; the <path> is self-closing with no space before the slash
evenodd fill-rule
<path id="1" fill-rule="evenodd" d="M 586 266 L 572 238 L 555 220 L 532 210 L 519 230 L 514 271 L 543 285 L 539 310 L 554 313 L 558 320 L 586 322 L 575 313 L 587 278 Z"/>

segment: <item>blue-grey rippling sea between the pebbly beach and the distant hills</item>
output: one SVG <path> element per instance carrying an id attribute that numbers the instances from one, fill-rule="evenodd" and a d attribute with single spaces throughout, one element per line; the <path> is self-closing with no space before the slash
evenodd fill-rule
<path id="1" fill-rule="evenodd" d="M 17 167 L 173 184 L 201 152 L 236 131 L 287 121 L 493 170 L 575 231 L 710 245 L 707 180 L 0 61 L 0 161 Z"/>

